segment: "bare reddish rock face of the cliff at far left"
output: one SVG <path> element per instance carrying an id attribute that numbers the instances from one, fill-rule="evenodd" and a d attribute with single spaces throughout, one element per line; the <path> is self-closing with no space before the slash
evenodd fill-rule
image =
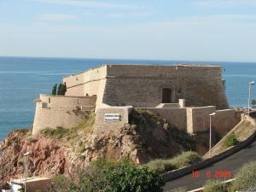
<path id="1" fill-rule="evenodd" d="M 67 156 L 65 147 L 51 138 L 26 137 L 27 131 L 13 131 L 0 144 L 3 155 L 0 159 L 0 180 L 8 181 L 10 177 L 21 177 L 24 172 L 24 154 L 30 152 L 28 174 L 44 177 L 65 174 Z"/>

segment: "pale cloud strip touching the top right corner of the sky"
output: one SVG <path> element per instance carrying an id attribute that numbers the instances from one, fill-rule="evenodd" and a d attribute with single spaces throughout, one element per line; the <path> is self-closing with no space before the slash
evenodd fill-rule
<path id="1" fill-rule="evenodd" d="M 255 0 L 200 0 L 195 2 L 195 5 L 203 8 L 256 6 L 256 1 Z"/>

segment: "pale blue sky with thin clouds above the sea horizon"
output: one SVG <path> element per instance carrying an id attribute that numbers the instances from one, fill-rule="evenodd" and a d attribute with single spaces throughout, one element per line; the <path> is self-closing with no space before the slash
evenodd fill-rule
<path id="1" fill-rule="evenodd" d="M 256 0 L 0 0 L 0 56 L 256 62 Z"/>

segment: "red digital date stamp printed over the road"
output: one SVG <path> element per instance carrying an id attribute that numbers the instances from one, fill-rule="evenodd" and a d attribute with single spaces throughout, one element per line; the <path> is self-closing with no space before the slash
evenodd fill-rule
<path id="1" fill-rule="evenodd" d="M 198 178 L 198 177 L 207 177 L 207 178 L 230 178 L 232 177 L 232 172 L 231 171 L 207 171 L 206 173 L 201 173 L 199 171 L 193 171 L 192 172 L 192 177 L 193 178 Z"/>

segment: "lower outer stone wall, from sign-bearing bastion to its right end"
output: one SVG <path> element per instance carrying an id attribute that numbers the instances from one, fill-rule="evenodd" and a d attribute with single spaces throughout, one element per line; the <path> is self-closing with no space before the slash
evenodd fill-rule
<path id="1" fill-rule="evenodd" d="M 129 123 L 129 113 L 131 107 L 111 107 L 98 108 L 96 111 L 96 133 L 116 131 L 126 123 Z M 240 122 L 240 113 L 234 109 L 217 110 L 215 106 L 199 108 L 136 108 L 147 109 L 158 113 L 170 124 L 176 125 L 178 129 L 187 131 L 189 134 L 209 130 L 209 114 L 212 116 L 212 129 L 217 131 L 222 137 Z M 120 120 L 106 121 L 105 113 L 119 113 Z"/>

